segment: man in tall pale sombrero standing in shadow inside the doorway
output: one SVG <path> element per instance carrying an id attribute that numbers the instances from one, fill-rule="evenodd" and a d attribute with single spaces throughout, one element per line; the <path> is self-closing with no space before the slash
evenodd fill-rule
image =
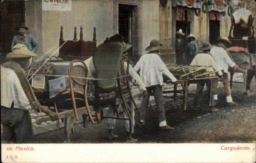
<path id="1" fill-rule="evenodd" d="M 185 33 L 182 33 L 182 29 L 176 32 L 176 44 L 175 44 L 175 53 L 176 53 L 176 64 L 183 64 L 183 55 L 185 52 Z"/>

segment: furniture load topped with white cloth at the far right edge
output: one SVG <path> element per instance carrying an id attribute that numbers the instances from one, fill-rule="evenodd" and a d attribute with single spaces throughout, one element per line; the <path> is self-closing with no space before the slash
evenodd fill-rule
<path id="1" fill-rule="evenodd" d="M 255 53 L 256 53 L 256 39 L 255 30 L 253 26 L 254 17 L 251 11 L 241 8 L 231 15 L 231 26 L 229 29 L 229 41 L 232 42 L 228 51 L 234 62 L 241 68 L 241 70 L 234 70 L 228 67 L 230 72 L 230 88 L 232 83 L 246 82 L 247 70 L 255 69 Z M 241 50 L 234 50 L 234 49 Z M 244 82 L 233 81 L 233 76 L 236 72 L 243 73 Z"/>

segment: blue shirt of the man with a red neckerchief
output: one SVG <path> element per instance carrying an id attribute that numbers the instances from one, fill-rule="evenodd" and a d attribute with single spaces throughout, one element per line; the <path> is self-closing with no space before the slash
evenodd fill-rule
<path id="1" fill-rule="evenodd" d="M 28 50 L 30 51 L 36 51 L 39 49 L 39 44 L 36 42 L 36 39 L 34 38 L 34 36 L 32 36 L 31 34 L 25 34 L 26 35 L 26 39 L 25 41 L 23 41 L 22 39 L 20 39 L 20 35 L 14 36 L 13 40 L 12 40 L 12 47 L 14 47 L 16 44 L 24 44 L 27 45 Z"/>

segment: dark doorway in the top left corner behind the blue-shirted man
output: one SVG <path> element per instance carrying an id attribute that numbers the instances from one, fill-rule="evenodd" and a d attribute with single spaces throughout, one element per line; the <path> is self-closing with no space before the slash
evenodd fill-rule
<path id="1" fill-rule="evenodd" d="M 1 1 L 1 58 L 11 52 L 12 39 L 19 32 L 16 27 L 25 24 L 25 1 Z"/>

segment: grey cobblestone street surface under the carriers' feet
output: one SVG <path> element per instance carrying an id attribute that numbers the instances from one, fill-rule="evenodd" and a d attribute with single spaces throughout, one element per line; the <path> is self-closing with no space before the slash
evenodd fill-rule
<path id="1" fill-rule="evenodd" d="M 237 76 L 239 79 L 241 76 Z M 241 79 L 241 78 L 240 78 Z M 223 85 L 219 82 L 219 102 L 216 106 L 219 112 L 209 112 L 205 102 L 200 109 L 194 110 L 193 98 L 188 99 L 187 111 L 182 109 L 182 100 L 170 99 L 165 103 L 167 123 L 174 127 L 171 131 L 159 131 L 156 117 L 156 107 L 148 107 L 145 126 L 137 126 L 138 113 L 135 111 L 135 127 L 133 137 L 140 143 L 246 143 L 256 141 L 256 108 L 255 108 L 255 80 L 252 80 L 249 96 L 243 94 L 242 83 L 234 83 L 232 88 L 233 100 L 238 106 L 228 106 L 223 92 Z M 196 85 L 190 85 L 195 90 Z M 82 120 L 82 117 L 79 118 Z M 54 122 L 56 126 L 56 122 Z M 60 122 L 62 123 L 62 122 Z M 124 143 L 125 130 L 121 120 L 116 121 L 114 133 L 119 135 L 115 140 L 107 141 L 105 120 L 101 124 L 88 123 L 83 128 L 82 123 L 74 125 L 75 134 L 71 134 L 71 143 Z M 54 128 L 54 127 L 53 127 Z M 50 132 L 36 136 L 40 143 L 63 143 L 64 128 L 53 129 Z"/>

